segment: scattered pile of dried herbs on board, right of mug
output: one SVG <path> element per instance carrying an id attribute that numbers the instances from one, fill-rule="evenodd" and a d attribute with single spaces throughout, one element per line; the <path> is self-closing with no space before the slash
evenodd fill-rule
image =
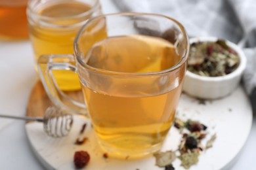
<path id="1" fill-rule="evenodd" d="M 176 158 L 181 160 L 181 166 L 189 169 L 192 165 L 196 165 L 199 161 L 200 154 L 203 150 L 213 146 L 217 137 L 214 134 L 209 141 L 203 146 L 202 140 L 208 135 L 207 126 L 199 121 L 187 120 L 182 121 L 179 118 L 175 119 L 174 126 L 179 129 L 182 139 L 178 150 L 157 152 L 154 154 L 156 165 L 165 167 L 165 169 L 175 169 L 172 163 Z"/>

